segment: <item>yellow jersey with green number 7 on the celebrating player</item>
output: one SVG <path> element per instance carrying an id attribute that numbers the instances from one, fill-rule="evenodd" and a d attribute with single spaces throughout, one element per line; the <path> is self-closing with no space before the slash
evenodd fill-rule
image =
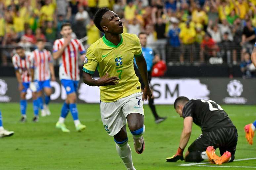
<path id="1" fill-rule="evenodd" d="M 121 34 L 121 41 L 117 45 L 103 36 L 88 48 L 83 71 L 93 74 L 97 68 L 100 77 L 108 72 L 109 77 L 117 76 L 120 79 L 116 85 L 100 87 L 101 101 L 113 102 L 141 92 L 141 84 L 133 67 L 134 56 L 141 55 L 141 43 L 135 34 Z"/>

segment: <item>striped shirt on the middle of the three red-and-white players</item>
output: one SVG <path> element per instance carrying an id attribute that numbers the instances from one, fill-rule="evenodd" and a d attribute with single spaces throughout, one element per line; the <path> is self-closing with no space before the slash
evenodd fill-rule
<path id="1" fill-rule="evenodd" d="M 35 61 L 35 80 L 49 80 L 51 78 L 50 63 L 53 61 L 51 52 L 46 49 L 42 51 L 35 49 L 32 55 Z"/>

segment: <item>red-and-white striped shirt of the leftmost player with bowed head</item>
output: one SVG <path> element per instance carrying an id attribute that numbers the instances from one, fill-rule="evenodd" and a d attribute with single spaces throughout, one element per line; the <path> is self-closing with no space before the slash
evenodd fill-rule
<path id="1" fill-rule="evenodd" d="M 25 52 L 24 58 L 21 58 L 18 54 L 15 54 L 12 60 L 15 70 L 19 70 L 21 73 L 21 81 L 25 83 L 30 82 L 32 80 L 30 69 L 34 68 L 34 60 L 31 53 Z"/>

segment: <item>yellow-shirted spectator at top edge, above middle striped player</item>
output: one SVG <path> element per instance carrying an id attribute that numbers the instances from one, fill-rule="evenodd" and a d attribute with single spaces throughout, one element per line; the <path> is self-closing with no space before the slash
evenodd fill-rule
<path id="1" fill-rule="evenodd" d="M 51 0 L 45 0 L 45 5 L 41 8 L 40 13 L 43 21 L 53 21 L 55 5 L 51 3 Z"/>

